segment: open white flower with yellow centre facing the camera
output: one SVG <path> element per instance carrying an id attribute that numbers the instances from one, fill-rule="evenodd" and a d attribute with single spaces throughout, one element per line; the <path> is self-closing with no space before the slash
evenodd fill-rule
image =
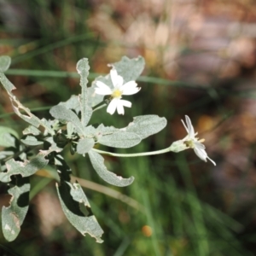
<path id="1" fill-rule="evenodd" d="M 136 94 L 141 88 L 137 87 L 135 81 L 129 81 L 124 84 L 124 79 L 119 76 L 117 71 L 113 68 L 110 70 L 110 78 L 113 83 L 113 89 L 109 88 L 107 84 L 102 83 L 101 81 L 96 81 L 96 94 L 100 95 L 110 95 L 112 101 L 108 104 L 107 112 L 113 114 L 117 109 L 119 114 L 125 113 L 125 107 L 131 108 L 131 102 L 121 100 L 123 95 L 132 95 Z"/>

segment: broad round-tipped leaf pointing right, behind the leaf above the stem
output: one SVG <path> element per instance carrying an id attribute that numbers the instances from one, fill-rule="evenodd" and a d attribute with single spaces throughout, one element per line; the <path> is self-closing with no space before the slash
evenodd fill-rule
<path id="1" fill-rule="evenodd" d="M 133 118 L 133 121 L 122 130 L 135 132 L 139 137 L 144 139 L 164 129 L 166 124 L 166 118 L 160 118 L 158 115 L 140 115 Z"/>

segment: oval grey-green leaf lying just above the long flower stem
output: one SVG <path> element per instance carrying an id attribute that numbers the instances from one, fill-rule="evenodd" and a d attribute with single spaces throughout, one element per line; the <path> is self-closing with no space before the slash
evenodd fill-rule
<path id="1" fill-rule="evenodd" d="M 131 148 L 141 142 L 141 137 L 130 131 L 116 131 L 98 137 L 97 143 L 113 148 Z"/>

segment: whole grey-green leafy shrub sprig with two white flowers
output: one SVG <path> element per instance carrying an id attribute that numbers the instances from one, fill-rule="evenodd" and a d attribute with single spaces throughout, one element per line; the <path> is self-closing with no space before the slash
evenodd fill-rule
<path id="1" fill-rule="evenodd" d="M 0 182 L 9 184 L 8 193 L 11 195 L 9 207 L 2 209 L 3 236 L 7 241 L 14 241 L 19 235 L 20 226 L 26 217 L 31 189 L 30 176 L 45 166 L 52 166 L 58 176 L 56 190 L 67 219 L 82 235 L 88 233 L 97 242 L 102 242 L 103 230 L 91 211 L 84 190 L 78 182 L 71 182 L 72 170 L 61 155 L 65 147 L 70 148 L 71 154 L 81 154 L 83 157 L 88 155 L 96 173 L 106 183 L 118 187 L 129 186 L 134 177 L 120 177 L 108 171 L 102 154 L 138 157 L 170 151 L 177 153 L 193 148 L 201 160 L 211 160 L 202 144 L 203 139 L 196 137 L 197 133 L 188 116 L 185 116 L 186 125 L 182 121 L 188 135 L 168 148 L 137 154 L 115 154 L 95 147 L 96 144 L 102 144 L 113 148 L 131 148 L 166 127 L 166 118 L 154 114 L 134 117 L 130 124 L 121 129 L 90 124 L 91 116 L 100 108 L 107 107 L 106 114 L 115 111 L 124 114 L 124 107 L 131 108 L 131 102 L 124 100 L 123 96 L 136 94 L 140 90 L 136 79 L 144 68 L 141 56 L 136 59 L 123 57 L 121 61 L 111 64 L 110 73 L 96 78 L 90 87 L 87 86 L 90 69 L 88 60 L 79 60 L 77 71 L 81 93 L 50 108 L 52 119 L 38 119 L 13 94 L 15 85 L 4 74 L 10 63 L 9 56 L 0 57 L 0 81 L 15 113 L 26 121 L 28 127 L 22 131 L 23 136 L 19 137 L 12 128 L 0 126 L 0 146 L 3 148 L 0 152 Z"/>

